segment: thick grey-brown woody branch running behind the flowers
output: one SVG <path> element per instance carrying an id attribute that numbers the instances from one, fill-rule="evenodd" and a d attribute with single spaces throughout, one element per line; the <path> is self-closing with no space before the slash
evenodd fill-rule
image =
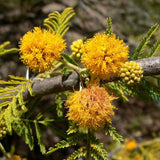
<path id="1" fill-rule="evenodd" d="M 153 76 L 160 74 L 160 57 L 144 58 L 136 61 L 139 63 L 144 72 L 144 76 Z M 116 81 L 119 77 L 113 77 L 110 81 Z M 53 78 L 37 80 L 32 85 L 32 90 L 35 96 L 43 96 L 51 93 L 58 93 L 67 90 L 73 90 L 79 88 L 80 76 L 79 73 L 73 71 L 67 77 L 64 75 L 58 75 Z M 103 81 L 102 83 L 108 82 Z M 31 96 L 29 92 L 24 93 L 24 100 L 29 100 Z"/>

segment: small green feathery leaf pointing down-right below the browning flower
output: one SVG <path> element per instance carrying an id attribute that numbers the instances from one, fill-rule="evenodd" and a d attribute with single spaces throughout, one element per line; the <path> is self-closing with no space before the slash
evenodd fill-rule
<path id="1" fill-rule="evenodd" d="M 121 135 L 119 135 L 116 132 L 116 129 L 114 127 L 112 127 L 110 124 L 106 124 L 106 126 L 104 128 L 104 132 L 106 135 L 109 133 L 110 136 L 112 137 L 112 139 L 117 141 L 118 143 L 123 142 L 123 137 Z"/>

